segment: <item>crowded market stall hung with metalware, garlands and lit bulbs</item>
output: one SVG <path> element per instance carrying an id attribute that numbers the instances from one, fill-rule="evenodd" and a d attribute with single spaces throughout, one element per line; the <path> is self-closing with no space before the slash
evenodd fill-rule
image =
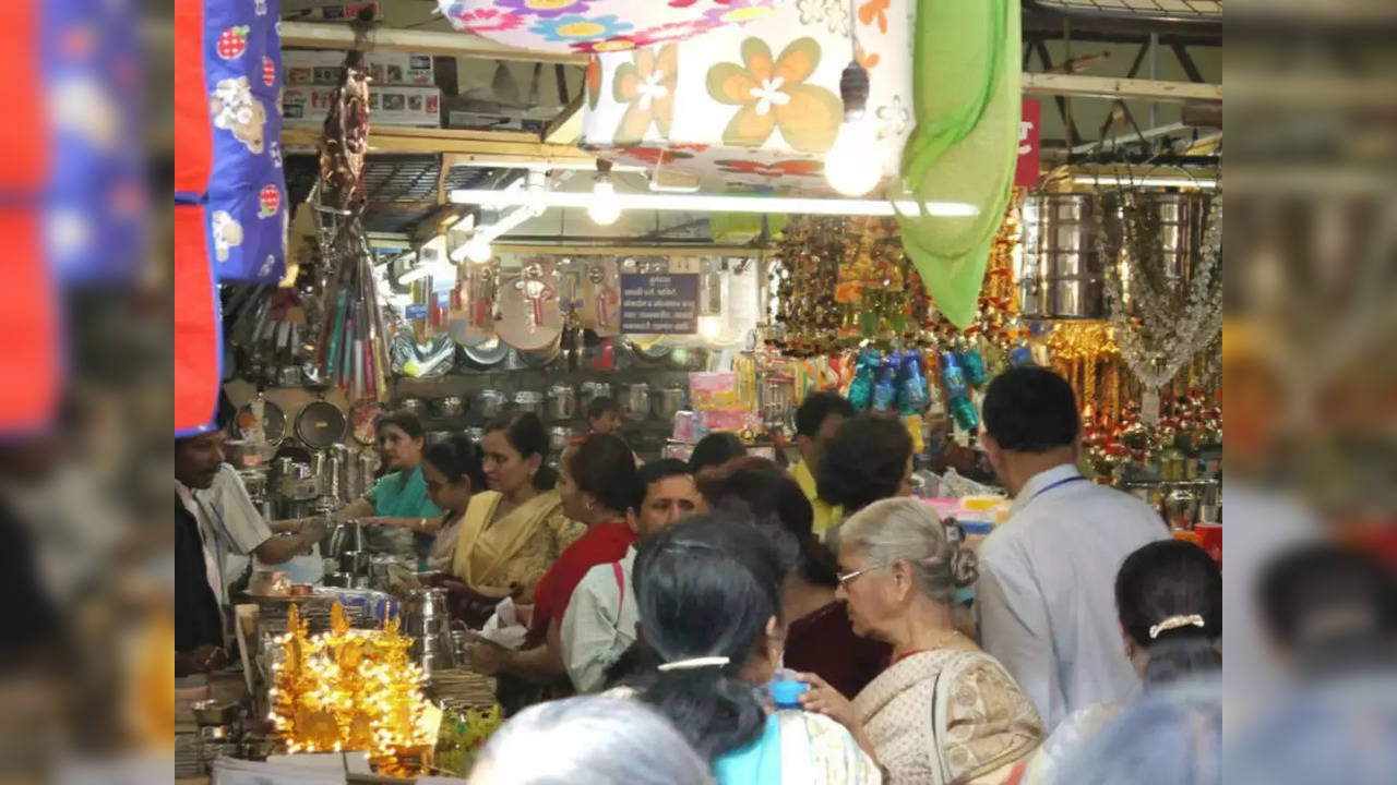
<path id="1" fill-rule="evenodd" d="M 295 552 L 218 552 L 228 656 L 180 673 L 180 778 L 464 778 L 562 694 L 521 703 L 472 658 L 538 645 L 534 592 L 474 619 L 482 567 L 437 550 L 460 444 L 509 482 L 492 434 L 531 482 L 576 483 L 590 434 L 690 467 L 731 434 L 795 468 L 800 405 L 835 394 L 905 429 L 912 493 L 975 548 L 1011 504 L 985 392 L 1046 367 L 1083 475 L 1221 560 L 1220 133 L 1132 115 L 1218 85 L 1133 78 L 1144 47 L 1119 92 L 1073 81 L 1091 63 L 1070 38 L 1048 61 L 1052 11 L 1010 0 L 201 6 L 179 20 L 205 135 L 180 140 L 177 430 L 219 434 L 235 475 L 193 504 L 224 518 L 240 487 L 239 520 Z M 458 82 L 482 64 L 489 101 Z M 1091 144 L 1046 119 L 1081 95 Z"/>

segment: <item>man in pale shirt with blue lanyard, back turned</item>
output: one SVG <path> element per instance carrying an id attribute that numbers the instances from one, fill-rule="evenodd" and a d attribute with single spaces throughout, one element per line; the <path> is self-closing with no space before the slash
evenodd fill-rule
<path id="1" fill-rule="evenodd" d="M 1160 514 L 1077 471 L 1071 387 L 1041 367 L 1010 369 L 985 392 L 982 444 L 1014 497 L 979 549 L 981 645 L 1014 676 L 1051 732 L 1067 714 L 1140 689 L 1116 623 L 1125 557 L 1168 538 Z"/>

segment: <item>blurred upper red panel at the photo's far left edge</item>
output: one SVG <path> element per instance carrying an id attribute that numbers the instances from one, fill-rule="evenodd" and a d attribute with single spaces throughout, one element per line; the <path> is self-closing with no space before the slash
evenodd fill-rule
<path id="1" fill-rule="evenodd" d="M 0 74 L 4 113 L 0 123 L 0 190 L 32 197 L 49 179 L 47 108 L 43 102 L 43 57 L 39 14 L 43 3 L 6 3 L 0 25 Z M 6 194 L 10 196 L 10 194 Z"/>

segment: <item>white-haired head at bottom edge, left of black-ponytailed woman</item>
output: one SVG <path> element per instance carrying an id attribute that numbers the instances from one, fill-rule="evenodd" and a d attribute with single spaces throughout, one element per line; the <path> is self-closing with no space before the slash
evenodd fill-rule
<path id="1" fill-rule="evenodd" d="M 529 707 L 500 728 L 468 785 L 712 785 L 708 763 L 638 701 L 583 697 Z"/>

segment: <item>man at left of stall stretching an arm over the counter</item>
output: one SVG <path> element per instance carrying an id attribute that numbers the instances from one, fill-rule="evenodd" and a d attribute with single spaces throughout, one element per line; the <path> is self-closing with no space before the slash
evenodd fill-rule
<path id="1" fill-rule="evenodd" d="M 184 675 L 215 668 L 224 658 L 228 553 L 279 564 L 319 541 L 324 527 L 310 522 L 291 536 L 272 536 L 256 513 L 226 514 L 229 503 L 239 510 L 242 503 L 253 506 L 236 471 L 224 462 L 221 432 L 175 441 L 175 672 Z M 217 499 L 215 483 L 225 492 Z"/>

